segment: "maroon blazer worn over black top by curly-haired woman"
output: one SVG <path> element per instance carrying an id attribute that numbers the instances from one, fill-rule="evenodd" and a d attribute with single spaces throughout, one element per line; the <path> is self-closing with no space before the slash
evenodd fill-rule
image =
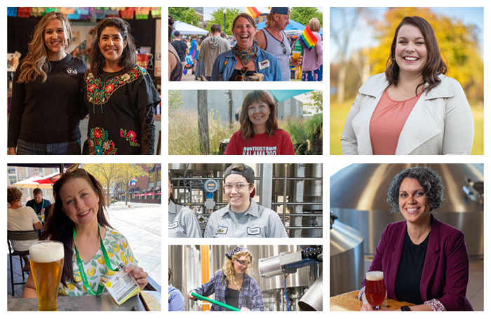
<path id="1" fill-rule="evenodd" d="M 473 311 L 466 298 L 469 253 L 464 233 L 430 216 L 430 238 L 420 283 L 421 298 L 423 301 L 436 298 L 447 311 Z M 387 225 L 370 266 L 370 271 L 384 271 L 387 296 L 392 299 L 396 299 L 396 276 L 407 231 L 405 221 Z"/>

